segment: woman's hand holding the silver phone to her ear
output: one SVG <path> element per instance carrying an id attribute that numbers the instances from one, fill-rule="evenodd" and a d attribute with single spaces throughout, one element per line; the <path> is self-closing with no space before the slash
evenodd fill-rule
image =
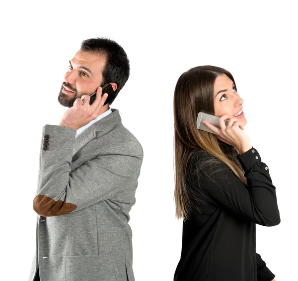
<path id="1" fill-rule="evenodd" d="M 239 120 L 237 118 L 229 118 L 227 125 L 225 125 L 225 119 L 228 119 L 228 115 L 222 115 L 219 118 L 221 128 L 213 126 L 206 120 L 202 122 L 206 127 L 216 133 L 218 139 L 237 148 L 240 154 L 251 149 L 251 141 L 243 132 L 244 127 L 240 124 Z"/>

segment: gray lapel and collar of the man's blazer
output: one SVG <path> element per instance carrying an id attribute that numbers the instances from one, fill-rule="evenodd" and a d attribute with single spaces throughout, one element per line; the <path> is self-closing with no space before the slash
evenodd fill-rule
<path id="1" fill-rule="evenodd" d="M 93 123 L 87 129 L 82 131 L 74 140 L 74 154 L 77 153 L 83 146 L 85 146 L 89 141 L 96 137 L 101 137 L 105 135 L 112 127 L 121 121 L 119 110 L 116 108 L 111 108 L 112 113 Z"/>

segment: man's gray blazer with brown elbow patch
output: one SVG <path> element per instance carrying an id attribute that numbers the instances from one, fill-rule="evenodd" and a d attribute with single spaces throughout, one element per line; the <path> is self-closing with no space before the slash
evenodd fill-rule
<path id="1" fill-rule="evenodd" d="M 40 280 L 134 281 L 128 222 L 142 146 L 114 108 L 77 138 L 75 133 L 66 126 L 43 127 L 33 200 Z"/>

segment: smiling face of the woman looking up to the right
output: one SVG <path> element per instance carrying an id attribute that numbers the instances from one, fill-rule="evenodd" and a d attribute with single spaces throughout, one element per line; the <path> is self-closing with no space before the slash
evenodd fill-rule
<path id="1" fill-rule="evenodd" d="M 234 116 L 243 110 L 242 104 L 243 99 L 237 93 L 233 81 L 225 74 L 218 76 L 214 83 L 215 115 L 220 117 L 226 114 L 228 118 L 237 118 L 240 124 L 245 126 L 247 121 L 243 111 L 239 116 Z"/>

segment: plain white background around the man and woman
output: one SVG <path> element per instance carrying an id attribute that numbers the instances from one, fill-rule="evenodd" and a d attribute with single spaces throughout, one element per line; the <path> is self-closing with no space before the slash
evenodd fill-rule
<path id="1" fill-rule="evenodd" d="M 10 1 L 0 10 L 0 280 L 28 278 L 42 127 L 59 124 L 68 109 L 57 99 L 68 62 L 82 40 L 98 36 L 116 40 L 131 63 L 111 107 L 144 149 L 130 212 L 136 281 L 171 281 L 179 262 L 173 92 L 179 76 L 199 65 L 234 76 L 245 133 L 270 169 L 281 215 L 278 226 L 257 226 L 257 252 L 277 281 L 297 280 L 298 20 L 292 1 Z"/>

